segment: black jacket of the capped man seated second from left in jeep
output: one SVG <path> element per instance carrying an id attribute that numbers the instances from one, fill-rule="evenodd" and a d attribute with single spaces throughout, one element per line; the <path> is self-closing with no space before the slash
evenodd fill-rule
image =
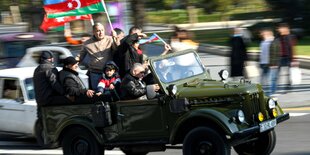
<path id="1" fill-rule="evenodd" d="M 71 69 L 64 68 L 59 72 L 59 80 L 65 90 L 65 95 L 80 96 L 85 95 L 87 92 L 79 74 Z"/>

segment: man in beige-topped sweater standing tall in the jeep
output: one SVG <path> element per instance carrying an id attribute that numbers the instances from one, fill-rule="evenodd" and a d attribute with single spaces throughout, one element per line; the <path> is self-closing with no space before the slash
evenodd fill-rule
<path id="1" fill-rule="evenodd" d="M 112 36 L 106 36 L 104 26 L 101 23 L 93 25 L 93 34 L 94 36 L 83 44 L 80 61 L 83 61 L 88 54 L 90 88 L 96 90 L 103 73 L 102 69 L 107 61 L 113 60 L 119 41 L 114 30 Z"/>

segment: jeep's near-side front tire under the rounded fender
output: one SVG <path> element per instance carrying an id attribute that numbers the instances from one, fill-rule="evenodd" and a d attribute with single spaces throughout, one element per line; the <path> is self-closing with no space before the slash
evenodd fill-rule
<path id="1" fill-rule="evenodd" d="M 183 155 L 230 155 L 230 147 L 215 130 L 197 127 L 186 135 Z"/>

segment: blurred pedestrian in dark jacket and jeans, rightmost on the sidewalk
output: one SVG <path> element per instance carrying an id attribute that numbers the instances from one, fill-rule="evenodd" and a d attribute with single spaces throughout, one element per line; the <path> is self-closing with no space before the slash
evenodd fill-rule
<path id="1" fill-rule="evenodd" d="M 281 23 L 278 25 L 277 31 L 279 36 L 273 41 L 270 48 L 271 95 L 277 90 L 278 77 L 283 67 L 286 67 L 288 73 L 285 89 L 291 87 L 290 67 L 297 64 L 294 59 L 296 37 L 290 33 L 289 25 Z"/>

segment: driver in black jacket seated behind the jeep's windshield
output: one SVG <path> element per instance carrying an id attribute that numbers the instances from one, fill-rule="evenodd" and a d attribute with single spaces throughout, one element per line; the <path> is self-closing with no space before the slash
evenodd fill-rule
<path id="1" fill-rule="evenodd" d="M 140 63 L 135 63 L 121 82 L 121 99 L 146 99 L 146 84 L 142 81 L 145 68 Z M 153 89 L 158 91 L 158 84 L 153 84 Z"/>

